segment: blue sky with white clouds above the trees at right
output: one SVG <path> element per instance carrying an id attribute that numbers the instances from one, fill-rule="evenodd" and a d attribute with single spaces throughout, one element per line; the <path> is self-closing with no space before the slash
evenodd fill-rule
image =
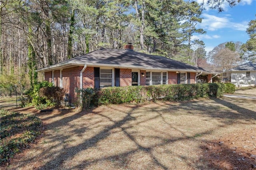
<path id="1" fill-rule="evenodd" d="M 202 0 L 197 2 L 200 3 Z M 203 28 L 207 33 L 196 35 L 194 38 L 204 41 L 207 52 L 224 42 L 245 43 L 249 39 L 246 33 L 248 23 L 256 19 L 256 0 L 241 0 L 232 8 L 228 4 L 223 4 L 222 7 L 224 12 L 211 10 L 205 6 L 206 10 L 202 13 L 204 19 L 198 24 L 198 28 Z"/>

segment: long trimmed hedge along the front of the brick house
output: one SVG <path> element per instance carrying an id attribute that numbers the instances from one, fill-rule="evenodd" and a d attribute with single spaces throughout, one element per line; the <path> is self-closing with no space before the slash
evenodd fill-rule
<path id="1" fill-rule="evenodd" d="M 202 83 L 202 84 L 176 84 L 176 85 L 152 85 L 152 86 L 126 86 L 126 87 L 107 87 L 94 89 L 87 97 L 86 91 L 78 90 L 78 101 L 80 96 L 90 99 L 94 105 L 109 105 L 121 103 L 143 103 L 145 101 L 186 101 L 207 97 L 222 97 L 226 86 L 222 83 Z M 82 95 L 81 95 L 82 94 Z M 94 94 L 94 96 L 91 96 Z M 80 106 L 88 109 L 90 105 Z"/>

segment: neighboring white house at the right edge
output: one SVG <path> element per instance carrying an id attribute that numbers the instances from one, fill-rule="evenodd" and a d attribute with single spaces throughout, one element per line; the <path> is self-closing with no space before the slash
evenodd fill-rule
<path id="1" fill-rule="evenodd" d="M 221 82 L 230 82 L 237 87 L 256 85 L 256 63 L 248 62 L 220 74 Z"/>

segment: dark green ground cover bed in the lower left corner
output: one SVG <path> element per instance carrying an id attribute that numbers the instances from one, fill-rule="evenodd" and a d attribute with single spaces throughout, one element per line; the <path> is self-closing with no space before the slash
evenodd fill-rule
<path id="1" fill-rule="evenodd" d="M 28 148 L 39 135 L 42 121 L 33 115 L 9 112 L 0 109 L 0 164 L 7 164 L 10 158 L 23 148 Z"/>

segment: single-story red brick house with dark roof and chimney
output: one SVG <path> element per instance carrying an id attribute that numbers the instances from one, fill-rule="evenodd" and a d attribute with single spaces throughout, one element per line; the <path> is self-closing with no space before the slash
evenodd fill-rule
<path id="1" fill-rule="evenodd" d="M 38 69 L 44 72 L 44 79 L 62 87 L 75 101 L 76 88 L 122 87 L 130 85 L 160 85 L 196 83 L 200 74 L 212 74 L 201 67 L 157 55 L 133 51 L 132 45 L 126 49 L 101 48 L 85 55 Z"/>

